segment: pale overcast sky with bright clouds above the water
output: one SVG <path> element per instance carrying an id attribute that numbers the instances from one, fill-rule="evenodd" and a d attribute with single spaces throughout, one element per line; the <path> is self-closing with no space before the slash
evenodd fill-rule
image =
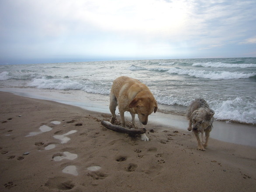
<path id="1" fill-rule="evenodd" d="M 255 0 L 0 0 L 0 64 L 256 57 Z"/>

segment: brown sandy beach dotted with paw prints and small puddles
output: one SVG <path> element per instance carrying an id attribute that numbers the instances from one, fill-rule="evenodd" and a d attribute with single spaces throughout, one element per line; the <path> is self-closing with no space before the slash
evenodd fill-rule
<path id="1" fill-rule="evenodd" d="M 1 192 L 255 192 L 256 148 L 146 126 L 108 130 L 109 113 L 0 92 Z"/>

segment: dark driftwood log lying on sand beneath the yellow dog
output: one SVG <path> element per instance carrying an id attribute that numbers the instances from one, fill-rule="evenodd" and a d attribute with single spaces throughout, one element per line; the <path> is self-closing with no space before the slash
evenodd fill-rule
<path id="1" fill-rule="evenodd" d="M 111 130 L 120 132 L 120 133 L 125 133 L 125 134 L 145 134 L 146 133 L 146 129 L 128 129 L 125 127 L 121 127 L 118 125 L 113 125 L 112 123 L 108 122 L 108 121 L 101 121 L 101 124 Z"/>

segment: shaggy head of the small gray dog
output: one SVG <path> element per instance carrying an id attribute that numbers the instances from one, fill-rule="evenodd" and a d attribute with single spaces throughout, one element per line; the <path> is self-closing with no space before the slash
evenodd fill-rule
<path id="1" fill-rule="evenodd" d="M 212 126 L 214 111 L 206 107 L 201 107 L 192 113 L 192 129 L 202 132 Z"/>

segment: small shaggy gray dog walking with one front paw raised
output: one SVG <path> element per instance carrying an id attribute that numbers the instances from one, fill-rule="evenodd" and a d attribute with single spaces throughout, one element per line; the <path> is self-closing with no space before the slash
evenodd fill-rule
<path id="1" fill-rule="evenodd" d="M 210 109 L 204 99 L 195 99 L 188 108 L 187 119 L 189 120 L 189 125 L 187 130 L 193 131 L 197 138 L 199 150 L 205 151 L 205 147 L 207 147 L 212 129 L 213 115 L 214 111 Z M 201 140 L 199 134 L 201 134 Z M 204 134 L 205 141 L 203 141 Z"/>

